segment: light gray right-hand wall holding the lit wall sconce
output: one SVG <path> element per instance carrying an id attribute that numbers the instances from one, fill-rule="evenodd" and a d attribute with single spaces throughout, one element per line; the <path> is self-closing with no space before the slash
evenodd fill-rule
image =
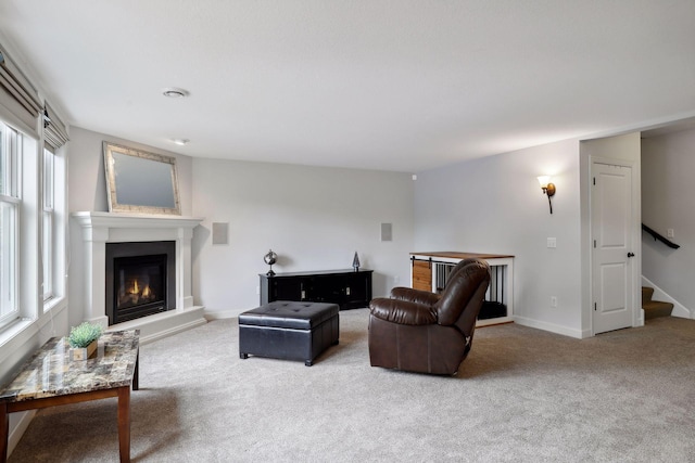
<path id="1" fill-rule="evenodd" d="M 553 215 L 541 175 L 557 188 Z M 577 140 L 419 172 L 414 250 L 515 255 L 516 321 L 582 337 L 579 180 Z"/>

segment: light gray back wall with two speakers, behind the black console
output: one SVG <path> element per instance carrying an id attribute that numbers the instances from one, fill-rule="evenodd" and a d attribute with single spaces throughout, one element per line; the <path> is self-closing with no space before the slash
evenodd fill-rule
<path id="1" fill-rule="evenodd" d="M 258 305 L 263 256 L 276 272 L 346 269 L 355 250 L 375 270 L 374 295 L 408 284 L 414 185 L 409 173 L 193 159 L 195 304 L 226 316 Z M 228 223 L 229 244 L 213 245 L 213 222 Z M 393 241 L 380 241 L 380 224 Z M 397 283 L 396 283 L 397 281 Z"/>

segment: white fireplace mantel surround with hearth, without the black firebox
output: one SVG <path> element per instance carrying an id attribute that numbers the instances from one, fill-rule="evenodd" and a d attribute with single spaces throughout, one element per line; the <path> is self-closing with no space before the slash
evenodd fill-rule
<path id="1" fill-rule="evenodd" d="M 121 213 L 73 213 L 83 230 L 85 285 L 83 300 L 87 321 L 109 324 L 106 317 L 106 243 L 176 242 L 176 310 L 144 317 L 109 329 L 140 329 L 143 340 L 173 334 L 205 323 L 203 307 L 193 306 L 191 241 L 203 219 Z"/>

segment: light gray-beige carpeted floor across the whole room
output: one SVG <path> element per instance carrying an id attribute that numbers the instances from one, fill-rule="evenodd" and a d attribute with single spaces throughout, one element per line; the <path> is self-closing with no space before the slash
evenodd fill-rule
<path id="1" fill-rule="evenodd" d="M 368 311 L 314 366 L 238 355 L 237 320 L 141 347 L 135 462 L 693 462 L 695 321 L 572 339 L 476 331 L 456 377 L 369 366 Z M 116 401 L 37 414 L 10 462 L 116 462 Z"/>

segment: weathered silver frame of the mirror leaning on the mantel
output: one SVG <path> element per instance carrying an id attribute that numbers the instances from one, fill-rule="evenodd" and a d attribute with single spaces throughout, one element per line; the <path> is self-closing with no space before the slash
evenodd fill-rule
<path id="1" fill-rule="evenodd" d="M 138 214 L 166 214 L 166 215 L 181 215 L 181 205 L 178 196 L 178 175 L 176 170 L 176 158 L 173 156 L 164 156 L 162 154 L 148 153 L 141 150 L 135 150 L 128 146 L 122 146 L 114 143 L 103 142 L 104 151 L 104 168 L 106 173 L 106 196 L 109 197 L 109 211 L 110 213 L 138 213 Z M 118 201 L 116 194 L 119 183 L 118 177 L 123 180 L 124 173 L 117 172 L 116 154 L 125 154 L 127 156 L 137 157 L 139 159 L 146 159 L 152 163 L 162 163 L 170 166 L 170 181 L 163 184 L 162 188 L 170 190 L 174 207 L 161 207 L 153 206 L 147 203 L 147 198 L 134 202 L 135 204 L 124 204 Z"/>

